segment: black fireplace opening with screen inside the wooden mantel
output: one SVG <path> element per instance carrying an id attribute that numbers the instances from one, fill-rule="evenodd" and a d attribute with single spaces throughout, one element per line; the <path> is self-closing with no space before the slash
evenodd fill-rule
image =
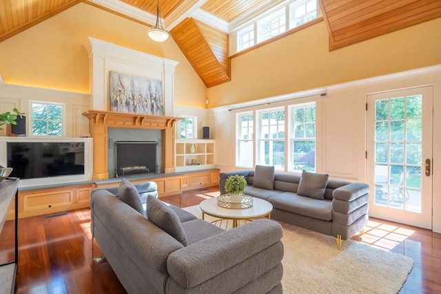
<path id="1" fill-rule="evenodd" d="M 156 141 L 116 141 L 116 178 L 156 173 Z"/>

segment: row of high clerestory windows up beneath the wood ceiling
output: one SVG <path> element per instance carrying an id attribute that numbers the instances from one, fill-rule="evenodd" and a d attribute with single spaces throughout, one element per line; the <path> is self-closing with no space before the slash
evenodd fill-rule
<path id="1" fill-rule="evenodd" d="M 250 48 L 320 17 L 317 1 L 287 1 L 283 6 L 277 6 L 262 17 L 250 21 L 243 28 L 237 30 L 236 48 L 232 48 L 233 53 Z M 257 38 L 254 38 L 254 36 L 257 36 Z"/>

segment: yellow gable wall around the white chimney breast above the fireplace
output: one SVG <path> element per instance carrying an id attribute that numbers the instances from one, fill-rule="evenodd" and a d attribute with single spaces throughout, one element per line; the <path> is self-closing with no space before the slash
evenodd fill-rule
<path id="1" fill-rule="evenodd" d="M 88 36 L 178 61 L 175 105 L 205 108 L 206 87 L 172 38 L 151 41 L 147 26 L 79 3 L 0 43 L 5 83 L 90 93 Z"/>

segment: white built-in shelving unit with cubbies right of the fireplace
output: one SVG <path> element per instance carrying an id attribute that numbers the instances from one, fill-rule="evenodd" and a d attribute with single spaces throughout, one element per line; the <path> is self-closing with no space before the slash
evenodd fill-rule
<path id="1" fill-rule="evenodd" d="M 214 140 L 176 139 L 176 171 L 194 171 L 214 167 Z"/>

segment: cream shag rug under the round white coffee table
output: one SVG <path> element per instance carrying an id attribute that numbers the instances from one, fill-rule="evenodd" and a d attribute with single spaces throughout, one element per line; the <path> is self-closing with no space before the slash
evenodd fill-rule
<path id="1" fill-rule="evenodd" d="M 185 210 L 201 218 L 198 205 Z M 343 241 L 340 251 L 336 238 L 279 223 L 285 249 L 284 293 L 398 293 L 413 267 L 411 258 L 398 253 L 354 240 Z"/>

